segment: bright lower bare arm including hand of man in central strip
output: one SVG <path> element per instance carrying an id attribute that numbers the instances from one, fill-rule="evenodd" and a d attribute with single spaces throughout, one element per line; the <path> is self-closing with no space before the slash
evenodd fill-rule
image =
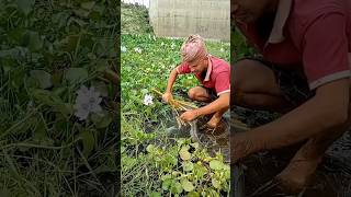
<path id="1" fill-rule="evenodd" d="M 213 114 L 223 108 L 229 107 L 229 97 L 230 97 L 230 92 L 223 93 L 219 95 L 217 100 L 213 101 L 208 105 L 203 106 L 201 108 L 185 112 L 180 116 L 180 118 L 185 121 L 191 121 L 197 118 L 199 116 Z"/>

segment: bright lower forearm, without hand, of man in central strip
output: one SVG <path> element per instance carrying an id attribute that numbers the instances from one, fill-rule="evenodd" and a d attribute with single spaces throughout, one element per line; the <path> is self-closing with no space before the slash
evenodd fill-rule
<path id="1" fill-rule="evenodd" d="M 229 107 L 229 92 L 220 94 L 220 96 L 217 100 L 213 101 L 206 106 L 195 109 L 195 112 L 197 113 L 197 116 L 203 116 Z"/>

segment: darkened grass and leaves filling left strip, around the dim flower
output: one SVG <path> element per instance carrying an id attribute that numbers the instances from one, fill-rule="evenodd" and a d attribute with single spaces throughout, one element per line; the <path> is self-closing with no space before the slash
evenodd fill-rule
<path id="1" fill-rule="evenodd" d="M 118 5 L 0 2 L 0 196 L 113 196 Z M 81 85 L 104 92 L 103 119 L 75 116 Z"/>

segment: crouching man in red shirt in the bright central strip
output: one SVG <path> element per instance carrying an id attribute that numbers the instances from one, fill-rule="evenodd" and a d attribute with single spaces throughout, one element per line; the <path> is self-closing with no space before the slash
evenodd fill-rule
<path id="1" fill-rule="evenodd" d="M 182 63 L 169 74 L 162 99 L 172 99 L 172 86 L 178 74 L 194 73 L 202 86 L 189 90 L 189 97 L 201 102 L 211 102 L 204 107 L 183 113 L 180 118 L 191 121 L 199 116 L 214 114 L 207 126 L 215 128 L 223 114 L 229 108 L 230 66 L 228 62 L 210 55 L 200 35 L 190 35 L 181 47 Z"/>

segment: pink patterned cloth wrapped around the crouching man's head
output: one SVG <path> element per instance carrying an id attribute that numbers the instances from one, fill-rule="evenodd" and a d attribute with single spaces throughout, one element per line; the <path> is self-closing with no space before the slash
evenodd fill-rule
<path id="1" fill-rule="evenodd" d="M 180 48 L 180 54 L 182 60 L 186 62 L 204 58 L 208 55 L 204 39 L 197 34 L 190 35 L 185 39 Z"/>

